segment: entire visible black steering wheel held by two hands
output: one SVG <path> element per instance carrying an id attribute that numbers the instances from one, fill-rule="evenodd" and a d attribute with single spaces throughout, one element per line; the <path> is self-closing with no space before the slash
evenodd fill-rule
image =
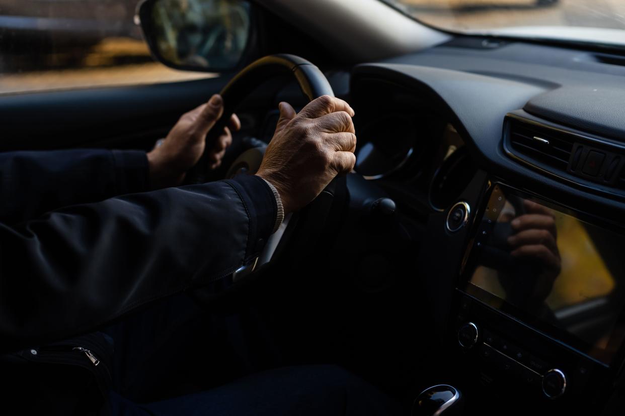
<path id="1" fill-rule="evenodd" d="M 299 85 L 302 94 L 306 96 L 309 101 L 321 97 L 321 95 L 330 95 L 334 97 L 332 87 L 326 79 L 325 75 L 306 59 L 298 56 L 279 54 L 262 57 L 261 59 L 252 62 L 244 69 L 235 75 L 234 78 L 221 90 L 221 96 L 224 102 L 224 113 L 219 119 L 211 131 L 206 137 L 207 143 L 213 143 L 214 140 L 219 137 L 226 126 L 227 120 L 241 104 L 247 95 L 250 94 L 258 85 L 272 79 L 276 76 L 292 75 Z M 259 142 L 261 143 L 261 142 Z M 206 149 L 208 150 L 208 146 Z M 186 183 L 204 183 L 208 174 L 209 161 L 207 159 L 207 150 L 204 151 L 204 155 L 197 162 L 196 166 L 187 173 Z M 226 178 L 231 178 L 237 173 L 244 171 L 247 174 L 254 174 L 259 168 L 262 161 L 262 155 L 264 154 L 264 148 L 252 148 L 243 152 L 237 160 L 232 163 L 232 167 L 229 169 Z M 301 213 L 296 213 L 292 218 L 285 218 L 284 223 L 280 227 L 280 230 L 276 231 L 266 243 L 264 251 L 261 256 L 250 264 L 244 264 L 234 274 L 232 274 L 232 280 L 227 282 L 225 286 L 229 286 L 232 283 L 237 283 L 247 274 L 250 274 L 257 267 L 262 266 L 264 263 L 268 263 L 274 253 L 277 244 L 281 241 L 286 226 L 291 223 L 297 222 L 297 216 L 305 216 L 306 224 L 298 225 L 298 233 L 301 231 L 306 234 L 306 239 L 314 241 L 314 234 L 320 233 L 322 225 L 328 215 L 332 202 L 334 200 L 334 193 L 336 191 L 337 180 L 333 180 L 321 195 L 317 196 L 316 200 L 312 201 Z M 303 228 L 303 230 L 302 230 Z M 212 301 L 216 294 L 210 291 L 199 290 L 194 293 L 196 300 L 207 303 Z"/>

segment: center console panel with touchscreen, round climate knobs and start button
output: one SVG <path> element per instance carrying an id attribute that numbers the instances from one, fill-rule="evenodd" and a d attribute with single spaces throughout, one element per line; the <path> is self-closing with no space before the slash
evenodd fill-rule
<path id="1" fill-rule="evenodd" d="M 625 236 L 619 226 L 503 183 L 469 228 L 448 343 L 481 386 L 547 409 L 589 410 L 623 362 Z M 466 224 L 466 225 L 465 225 Z"/>

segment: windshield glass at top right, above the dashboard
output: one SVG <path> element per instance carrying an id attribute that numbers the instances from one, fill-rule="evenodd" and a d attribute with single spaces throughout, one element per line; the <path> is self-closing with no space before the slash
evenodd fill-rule
<path id="1" fill-rule="evenodd" d="M 432 26 L 625 46 L 624 0 L 382 0 Z"/>

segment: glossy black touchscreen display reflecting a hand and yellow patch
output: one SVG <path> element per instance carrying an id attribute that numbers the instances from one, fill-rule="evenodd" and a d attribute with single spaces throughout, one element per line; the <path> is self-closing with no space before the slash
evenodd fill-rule
<path id="1" fill-rule="evenodd" d="M 494 186 L 464 268 L 466 291 L 609 364 L 625 337 L 625 237 Z"/>

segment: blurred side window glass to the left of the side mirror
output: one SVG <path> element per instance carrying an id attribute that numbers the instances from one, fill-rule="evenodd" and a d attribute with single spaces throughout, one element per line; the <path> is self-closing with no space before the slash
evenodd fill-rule
<path id="1" fill-rule="evenodd" d="M 214 76 L 155 62 L 134 24 L 138 1 L 0 0 L 0 94 Z"/>

